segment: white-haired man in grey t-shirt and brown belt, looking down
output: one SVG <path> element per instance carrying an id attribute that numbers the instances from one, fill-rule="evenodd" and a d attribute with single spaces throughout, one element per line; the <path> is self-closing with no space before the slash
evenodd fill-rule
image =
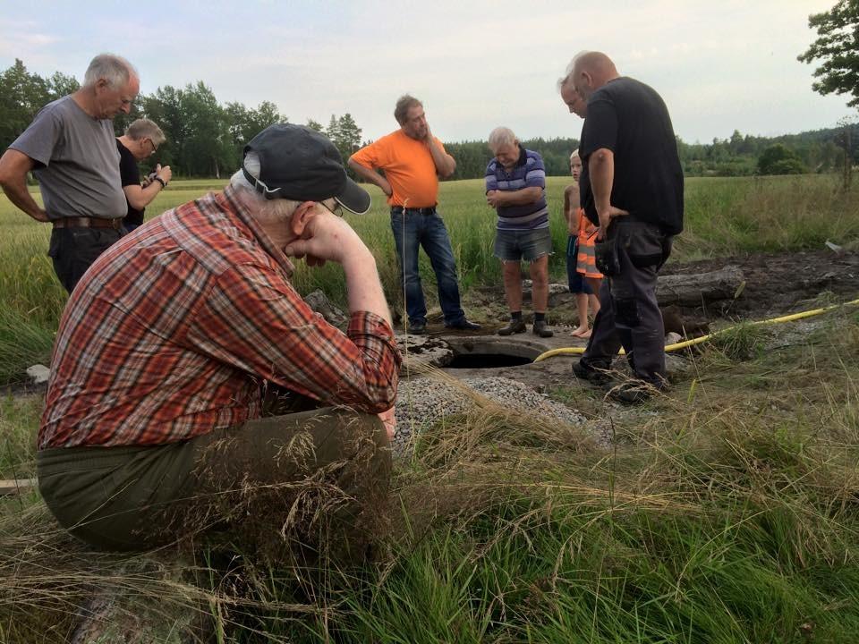
<path id="1" fill-rule="evenodd" d="M 83 86 L 44 106 L 0 157 L 0 186 L 36 221 L 51 222 L 48 255 L 68 292 L 89 265 L 122 235 L 127 205 L 119 177 L 113 118 L 128 114 L 140 79 L 124 58 L 92 59 Z M 30 196 L 39 182 L 45 208 Z"/>

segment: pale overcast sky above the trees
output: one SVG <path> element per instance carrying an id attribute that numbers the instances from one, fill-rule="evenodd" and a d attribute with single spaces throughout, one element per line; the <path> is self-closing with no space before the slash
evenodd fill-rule
<path id="1" fill-rule="evenodd" d="M 808 15 L 836 0 L 0 0 L 0 69 L 83 77 L 124 55 L 141 91 L 204 81 L 221 104 L 273 101 L 292 123 L 353 115 L 364 139 L 395 129 L 396 98 L 421 98 L 442 140 L 578 137 L 556 81 L 583 49 L 657 89 L 687 142 L 831 127 L 848 97 L 812 91 Z M 89 8 L 89 7 L 94 8 Z"/>

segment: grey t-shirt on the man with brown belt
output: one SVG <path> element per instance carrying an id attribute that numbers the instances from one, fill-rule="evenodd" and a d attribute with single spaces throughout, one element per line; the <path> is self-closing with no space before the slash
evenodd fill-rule
<path id="1" fill-rule="evenodd" d="M 36 162 L 33 174 L 52 220 L 125 216 L 128 206 L 110 119 L 95 119 L 72 97 L 62 97 L 42 107 L 9 147 Z"/>

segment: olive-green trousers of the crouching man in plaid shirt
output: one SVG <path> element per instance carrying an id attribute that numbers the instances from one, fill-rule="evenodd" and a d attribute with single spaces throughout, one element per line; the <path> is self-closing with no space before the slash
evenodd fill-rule
<path id="1" fill-rule="evenodd" d="M 57 521 L 106 550 L 157 547 L 212 526 L 283 537 L 317 502 L 329 524 L 352 530 L 368 504 L 384 505 L 390 463 L 377 416 L 331 407 L 168 445 L 37 454 L 39 491 Z"/>

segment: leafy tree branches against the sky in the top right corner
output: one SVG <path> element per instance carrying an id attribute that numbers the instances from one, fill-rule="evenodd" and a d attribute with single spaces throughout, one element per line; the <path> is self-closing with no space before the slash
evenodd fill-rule
<path id="1" fill-rule="evenodd" d="M 859 107 L 859 0 L 839 0 L 828 12 L 810 15 L 808 26 L 818 38 L 797 59 L 821 60 L 812 89 L 824 96 L 850 94 L 847 105 Z"/>

